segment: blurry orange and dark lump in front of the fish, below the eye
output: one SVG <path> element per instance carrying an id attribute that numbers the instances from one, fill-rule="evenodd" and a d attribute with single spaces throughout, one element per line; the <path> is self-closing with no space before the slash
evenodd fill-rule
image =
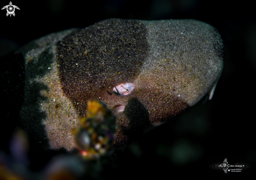
<path id="1" fill-rule="evenodd" d="M 87 159 L 99 158 L 111 152 L 115 131 L 111 110 L 97 99 L 89 99 L 86 117 L 81 119 L 80 127 L 73 130 L 76 147 Z"/>

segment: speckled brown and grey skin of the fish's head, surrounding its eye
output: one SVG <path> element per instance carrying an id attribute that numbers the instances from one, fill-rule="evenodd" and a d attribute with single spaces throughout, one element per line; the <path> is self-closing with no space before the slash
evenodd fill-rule
<path id="1" fill-rule="evenodd" d="M 110 109 L 125 106 L 119 113 L 113 109 L 119 127 L 113 145 L 121 149 L 196 104 L 216 85 L 224 57 L 217 30 L 191 19 L 107 19 L 66 31 L 47 46 L 19 52 L 23 52 L 26 64 L 35 63 L 29 61 L 37 57 L 34 51 L 40 55 L 44 49 L 52 55 L 47 73 L 29 81 L 48 88 L 38 91 L 46 97 L 38 104 L 46 113 L 41 121 L 50 148 L 69 151 L 73 148 L 70 129 L 85 116 L 88 98 L 97 97 Z M 109 94 L 123 83 L 132 83 L 135 88 L 128 95 Z"/>

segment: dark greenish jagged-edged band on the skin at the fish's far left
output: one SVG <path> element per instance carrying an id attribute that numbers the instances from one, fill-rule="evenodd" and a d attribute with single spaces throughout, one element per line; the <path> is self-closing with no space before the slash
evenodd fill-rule
<path id="1" fill-rule="evenodd" d="M 50 48 L 48 48 L 40 54 L 38 60 L 28 62 L 25 65 L 27 78 L 25 79 L 24 104 L 20 110 L 22 119 L 20 127 L 28 133 L 29 137 L 32 137 L 32 142 L 35 142 L 36 144 L 41 142 L 40 145 L 45 149 L 50 148 L 46 130 L 42 125 L 42 120 L 46 119 L 47 115 L 46 112 L 39 110 L 39 102 L 47 100 L 47 98 L 42 96 L 40 92 L 43 90 L 48 91 L 49 89 L 43 83 L 38 83 L 32 80 L 37 76 L 43 77 L 50 71 L 48 67 L 51 66 L 52 58 L 53 54 L 50 53 Z M 30 81 L 32 81 L 32 83 Z M 29 123 L 29 126 L 27 123 Z"/>

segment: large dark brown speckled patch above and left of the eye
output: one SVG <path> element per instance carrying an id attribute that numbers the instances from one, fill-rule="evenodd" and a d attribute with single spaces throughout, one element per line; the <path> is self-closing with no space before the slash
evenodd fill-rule
<path id="1" fill-rule="evenodd" d="M 88 98 L 137 78 L 149 51 L 146 33 L 139 21 L 106 19 L 57 43 L 62 89 L 80 116 Z"/>

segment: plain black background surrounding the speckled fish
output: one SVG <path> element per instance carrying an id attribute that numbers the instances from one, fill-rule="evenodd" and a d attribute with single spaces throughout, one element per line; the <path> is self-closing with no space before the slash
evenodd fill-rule
<path id="1" fill-rule="evenodd" d="M 6 9 L 0 11 L 0 148 L 3 152 L 8 154 L 9 138 L 16 128 L 15 122 L 19 120 L 19 108 L 23 103 L 21 80 L 24 78 L 18 60 L 10 60 L 12 56 L 3 58 L 4 55 L 48 33 L 74 27 L 84 28 L 107 18 L 190 18 L 216 27 L 224 40 L 224 70 L 213 99 L 205 104 L 199 102 L 183 115 L 139 138 L 130 148 L 116 152 L 117 166 L 106 170 L 105 178 L 137 177 L 135 173 L 144 178 L 158 179 L 174 175 L 226 176 L 224 172 L 210 170 L 208 167 L 225 158 L 230 160 L 229 164 L 241 161 L 250 164 L 250 170 L 242 173 L 253 174 L 256 162 L 256 18 L 252 3 L 197 0 L 58 0 L 12 3 L 20 8 L 15 10 L 15 17 L 6 17 Z M 7 4 L 8 1 L 1 1 L 0 6 L 2 8 Z M 17 77 L 18 74 L 22 74 L 21 77 Z M 18 82 L 21 85 L 17 87 Z M 182 144 L 181 148 L 175 148 L 179 144 Z M 52 155 L 40 153 L 31 155 L 30 161 L 34 164 L 31 165 L 32 171 L 46 166 Z"/>

